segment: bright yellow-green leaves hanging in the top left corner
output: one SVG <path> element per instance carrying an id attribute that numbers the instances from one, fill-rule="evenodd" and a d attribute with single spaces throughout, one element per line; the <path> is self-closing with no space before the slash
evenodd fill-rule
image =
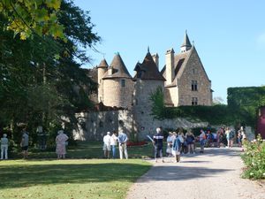
<path id="1" fill-rule="evenodd" d="M 64 39 L 64 27 L 58 23 L 57 14 L 61 0 L 2 0 L 0 12 L 8 19 L 4 28 L 19 34 L 21 40 L 39 35 Z"/>

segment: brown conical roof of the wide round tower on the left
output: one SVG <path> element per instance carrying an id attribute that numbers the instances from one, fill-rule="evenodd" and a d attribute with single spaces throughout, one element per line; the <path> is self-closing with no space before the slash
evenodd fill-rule
<path id="1" fill-rule="evenodd" d="M 109 74 L 108 72 L 105 73 L 103 76 L 104 79 L 113 79 L 113 78 L 129 78 L 132 79 L 132 76 L 128 72 L 123 59 L 120 57 L 119 53 L 117 53 L 110 64 L 109 67 L 112 67 L 113 73 Z"/>

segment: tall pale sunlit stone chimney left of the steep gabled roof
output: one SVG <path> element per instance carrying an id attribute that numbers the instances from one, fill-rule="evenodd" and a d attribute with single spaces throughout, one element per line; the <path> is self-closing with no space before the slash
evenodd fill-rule
<path id="1" fill-rule="evenodd" d="M 174 53 L 175 51 L 173 49 L 167 50 L 165 56 L 166 56 L 166 85 L 169 85 L 172 83 L 172 80 L 174 78 Z"/>

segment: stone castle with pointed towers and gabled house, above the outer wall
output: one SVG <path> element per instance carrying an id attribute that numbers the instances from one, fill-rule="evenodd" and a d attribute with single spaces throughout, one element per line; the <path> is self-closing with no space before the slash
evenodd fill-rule
<path id="1" fill-rule="evenodd" d="M 178 54 L 173 49 L 166 51 L 161 72 L 158 65 L 158 55 L 148 50 L 132 77 L 118 53 L 110 65 L 103 59 L 96 67 L 97 103 L 133 110 L 149 103 L 150 93 L 161 87 L 167 106 L 212 104 L 211 81 L 187 34 Z"/>

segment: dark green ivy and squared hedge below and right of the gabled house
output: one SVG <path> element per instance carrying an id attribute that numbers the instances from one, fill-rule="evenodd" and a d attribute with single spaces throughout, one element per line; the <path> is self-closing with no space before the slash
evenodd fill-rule
<path id="1" fill-rule="evenodd" d="M 158 90 L 151 97 L 155 119 L 186 118 L 211 125 L 254 127 L 257 110 L 265 105 L 265 87 L 228 88 L 228 105 L 165 107 L 162 95 Z"/>

